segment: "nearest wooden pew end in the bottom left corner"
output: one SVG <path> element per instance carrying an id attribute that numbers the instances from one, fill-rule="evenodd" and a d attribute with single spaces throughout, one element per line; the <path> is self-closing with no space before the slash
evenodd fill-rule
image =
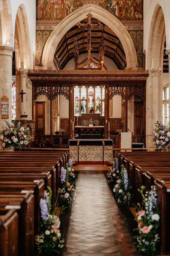
<path id="1" fill-rule="evenodd" d="M 18 214 L 14 209 L 0 211 L 0 255 L 18 256 Z"/>

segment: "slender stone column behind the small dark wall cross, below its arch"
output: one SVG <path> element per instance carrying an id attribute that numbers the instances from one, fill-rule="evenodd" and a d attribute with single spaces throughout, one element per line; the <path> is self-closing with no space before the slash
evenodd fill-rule
<path id="1" fill-rule="evenodd" d="M 19 93 L 22 92 L 23 90 L 23 102 L 22 102 L 22 94 L 18 94 L 18 102 L 16 102 L 16 109 L 17 109 L 17 113 L 16 113 L 16 117 L 17 119 L 20 118 L 20 115 L 27 114 L 27 109 L 26 109 L 26 99 L 27 99 L 27 94 L 26 94 L 26 78 L 27 78 L 27 74 L 28 71 L 27 69 L 19 69 L 18 70 L 18 75 L 19 75 L 19 87 L 20 87 L 20 91 Z"/>

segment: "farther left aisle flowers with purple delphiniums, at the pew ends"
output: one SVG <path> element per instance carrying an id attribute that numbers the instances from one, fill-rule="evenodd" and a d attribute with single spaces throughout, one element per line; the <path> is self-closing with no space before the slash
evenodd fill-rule
<path id="1" fill-rule="evenodd" d="M 69 162 L 66 163 L 66 169 L 61 167 L 61 182 L 58 190 L 58 206 L 62 207 L 61 213 L 70 206 L 72 201 L 72 192 L 75 191 L 75 174 L 74 169 L 72 168 L 72 162 L 73 159 L 70 158 Z"/>

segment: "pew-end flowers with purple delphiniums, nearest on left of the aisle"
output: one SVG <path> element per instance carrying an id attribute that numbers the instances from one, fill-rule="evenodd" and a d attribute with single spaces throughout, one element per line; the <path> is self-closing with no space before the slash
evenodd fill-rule
<path id="1" fill-rule="evenodd" d="M 44 191 L 44 197 L 40 200 L 41 223 L 40 232 L 36 235 L 35 240 L 38 251 L 41 256 L 45 255 L 61 255 L 64 247 L 64 241 L 61 240 L 60 219 L 52 212 L 51 197 L 52 191 L 48 187 L 49 192 Z"/>

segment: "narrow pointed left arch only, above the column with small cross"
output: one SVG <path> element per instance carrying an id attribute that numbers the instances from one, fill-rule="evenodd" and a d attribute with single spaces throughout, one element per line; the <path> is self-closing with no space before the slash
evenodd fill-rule
<path id="1" fill-rule="evenodd" d="M 16 68 L 31 68 L 31 50 L 27 14 L 25 6 L 21 4 L 16 13 L 15 20 L 15 58 Z"/>

